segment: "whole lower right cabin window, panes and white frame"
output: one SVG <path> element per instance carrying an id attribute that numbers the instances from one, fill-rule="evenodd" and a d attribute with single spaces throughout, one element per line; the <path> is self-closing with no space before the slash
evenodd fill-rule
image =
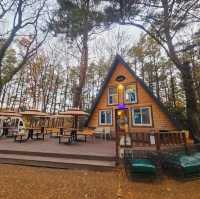
<path id="1" fill-rule="evenodd" d="M 132 122 L 134 126 L 152 126 L 151 108 L 133 108 Z"/>

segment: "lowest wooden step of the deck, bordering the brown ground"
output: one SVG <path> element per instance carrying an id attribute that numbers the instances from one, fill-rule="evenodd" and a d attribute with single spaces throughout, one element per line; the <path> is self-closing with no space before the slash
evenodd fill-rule
<path id="1" fill-rule="evenodd" d="M 16 164 L 60 169 L 92 169 L 110 170 L 115 167 L 115 161 L 87 160 L 75 158 L 56 158 L 16 154 L 0 154 L 0 163 Z"/>

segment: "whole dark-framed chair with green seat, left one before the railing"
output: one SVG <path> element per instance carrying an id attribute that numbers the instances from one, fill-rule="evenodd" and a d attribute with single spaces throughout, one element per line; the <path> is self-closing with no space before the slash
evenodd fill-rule
<path id="1" fill-rule="evenodd" d="M 125 149 L 124 164 L 129 179 L 155 180 L 160 176 L 160 164 L 155 152 Z"/>

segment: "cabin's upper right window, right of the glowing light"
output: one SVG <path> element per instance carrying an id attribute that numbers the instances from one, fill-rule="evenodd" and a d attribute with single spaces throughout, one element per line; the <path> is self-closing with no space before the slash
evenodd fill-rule
<path id="1" fill-rule="evenodd" d="M 137 102 L 136 84 L 131 84 L 125 87 L 125 102 L 126 103 Z"/>

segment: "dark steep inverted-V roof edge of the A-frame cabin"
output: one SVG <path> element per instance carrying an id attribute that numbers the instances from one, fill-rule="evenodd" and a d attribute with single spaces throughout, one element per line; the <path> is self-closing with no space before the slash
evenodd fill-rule
<path id="1" fill-rule="evenodd" d="M 95 111 L 95 108 L 103 94 L 103 91 L 106 88 L 106 86 L 118 64 L 122 64 L 125 66 L 125 68 L 130 72 L 130 74 L 141 84 L 141 86 L 144 88 L 144 90 L 153 98 L 153 100 L 160 107 L 160 109 L 167 115 L 169 120 L 176 126 L 176 128 L 181 129 L 181 125 L 180 125 L 179 121 L 177 120 L 177 118 L 175 116 L 173 116 L 171 113 L 169 113 L 169 111 L 166 109 L 166 107 L 163 105 L 163 103 L 153 94 L 153 92 L 149 89 L 149 87 L 146 85 L 146 83 L 135 74 L 135 72 L 130 68 L 128 63 L 126 63 L 123 60 L 123 58 L 118 54 L 115 56 L 115 59 L 114 59 L 112 65 L 110 67 L 110 70 L 108 71 L 108 74 L 100 88 L 100 91 L 99 91 L 94 103 L 92 104 L 91 112 L 90 112 L 90 115 L 89 115 L 89 118 L 88 118 L 86 124 L 89 123 L 89 121 L 92 117 L 92 114 Z"/>

